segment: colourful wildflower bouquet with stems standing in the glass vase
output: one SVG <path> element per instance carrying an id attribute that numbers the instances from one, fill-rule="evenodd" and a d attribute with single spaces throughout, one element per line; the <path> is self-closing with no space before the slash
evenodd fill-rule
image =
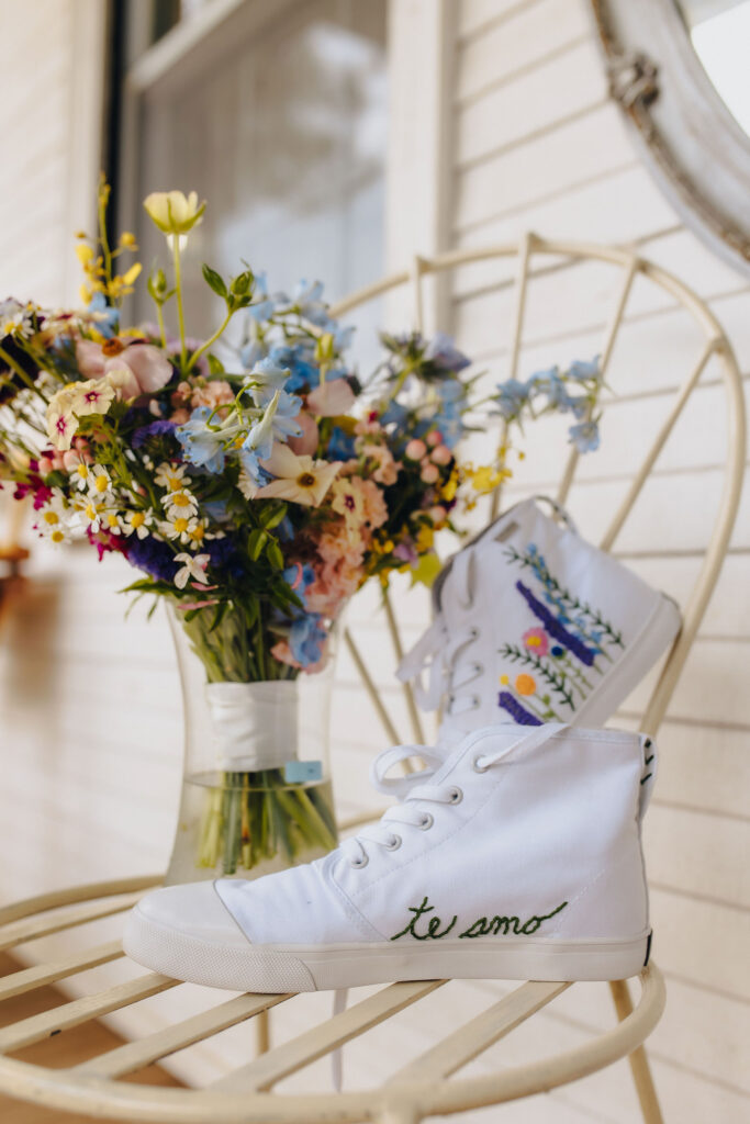
<path id="1" fill-rule="evenodd" d="M 195 193 L 145 200 L 170 279 L 162 268 L 147 279 L 155 323 L 124 326 L 141 266 L 120 265 L 137 247 L 129 234 L 110 243 L 108 196 L 102 182 L 98 236 L 79 236 L 85 307 L 0 305 L 0 482 L 30 497 L 34 526 L 53 544 L 85 536 L 100 559 L 120 554 L 139 572 L 128 590 L 168 602 L 205 669 L 217 729 L 236 744 L 247 692 L 277 685 L 281 698 L 279 685 L 320 670 L 337 617 L 369 578 L 406 570 L 430 583 L 433 538 L 455 529 L 459 489 L 471 506 L 508 470 L 503 450 L 478 469 L 457 461 L 473 380 L 448 338 L 383 336 L 387 359 L 361 381 L 346 360 L 351 333 L 319 284 L 269 293 L 250 269 L 225 279 L 204 265 L 224 315 L 208 339 L 192 339 L 182 257 L 204 217 Z M 236 318 L 241 339 L 229 346 Z M 571 369 L 509 380 L 488 401 L 519 422 L 543 393 L 543 409 L 595 425 L 597 387 L 593 366 Z M 293 749 L 280 752 L 222 767 L 200 865 L 234 873 L 335 845 L 329 786 L 290 776 Z"/>

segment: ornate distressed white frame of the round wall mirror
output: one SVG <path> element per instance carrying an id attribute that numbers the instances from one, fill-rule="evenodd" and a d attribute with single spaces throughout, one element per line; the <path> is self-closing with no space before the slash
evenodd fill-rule
<path id="1" fill-rule="evenodd" d="M 644 163 L 684 219 L 750 278 L 750 137 L 693 48 L 676 0 L 591 0 L 609 79 Z"/>

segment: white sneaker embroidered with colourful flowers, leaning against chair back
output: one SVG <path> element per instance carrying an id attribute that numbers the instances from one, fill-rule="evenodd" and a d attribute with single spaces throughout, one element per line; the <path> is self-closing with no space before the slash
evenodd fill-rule
<path id="1" fill-rule="evenodd" d="M 433 587 L 433 623 L 398 677 L 423 709 L 442 706 L 440 745 L 493 723 L 602 726 L 679 632 L 670 598 L 546 502 L 557 520 L 517 504 Z"/>

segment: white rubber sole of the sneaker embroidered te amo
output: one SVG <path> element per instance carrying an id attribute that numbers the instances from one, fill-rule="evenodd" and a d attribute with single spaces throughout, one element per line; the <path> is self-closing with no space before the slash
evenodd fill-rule
<path id="1" fill-rule="evenodd" d="M 491 945 L 469 948 L 467 941 L 417 949 L 389 942 L 310 946 L 247 942 L 244 948 L 168 928 L 136 906 L 123 943 L 128 957 L 164 976 L 233 991 L 281 994 L 422 979 L 627 979 L 645 963 L 650 934 L 624 941 L 500 937 Z"/>

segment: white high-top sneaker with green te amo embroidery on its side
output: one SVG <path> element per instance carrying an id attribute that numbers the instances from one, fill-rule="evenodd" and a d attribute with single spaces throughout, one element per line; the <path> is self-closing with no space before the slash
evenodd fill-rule
<path id="1" fill-rule="evenodd" d="M 424 772 L 386 773 L 421 753 Z M 648 960 L 644 736 L 494 726 L 440 764 L 395 746 L 373 764 L 403 796 L 306 867 L 148 894 L 125 951 L 195 984 L 315 991 L 408 979 L 608 980 Z"/>

